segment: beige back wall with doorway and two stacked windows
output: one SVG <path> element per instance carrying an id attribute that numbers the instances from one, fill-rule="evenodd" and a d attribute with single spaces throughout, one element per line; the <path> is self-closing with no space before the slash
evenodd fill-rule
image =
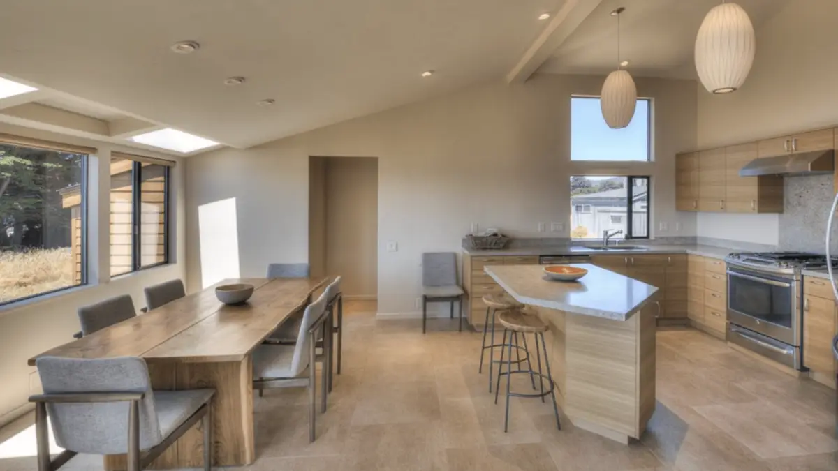
<path id="1" fill-rule="evenodd" d="M 675 211 L 673 178 L 675 153 L 696 147 L 696 82 L 637 80 L 639 95 L 654 98 L 654 163 L 571 162 L 571 96 L 598 95 L 603 80 L 536 74 L 475 85 L 256 148 L 201 154 L 189 159 L 187 210 L 235 198 L 241 275 L 259 276 L 268 260 L 308 260 L 308 156 L 378 157 L 380 313 L 418 311 L 422 252 L 459 252 L 473 222 L 517 237 L 567 237 L 574 174 L 651 175 L 653 235 L 696 235 L 696 215 Z M 195 222 L 187 231 L 193 288 L 204 236 Z M 565 229 L 539 232 L 539 222 Z M 670 230 L 657 230 L 660 222 Z M 390 241 L 398 251 L 385 250 Z"/>

